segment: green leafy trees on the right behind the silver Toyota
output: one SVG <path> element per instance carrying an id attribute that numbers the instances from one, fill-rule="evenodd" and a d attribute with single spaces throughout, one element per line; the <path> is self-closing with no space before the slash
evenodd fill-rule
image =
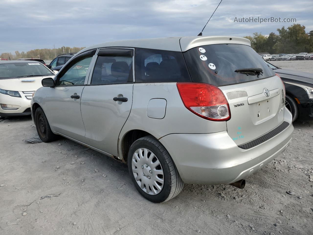
<path id="1" fill-rule="evenodd" d="M 313 52 L 313 30 L 305 32 L 305 26 L 293 24 L 288 28 L 283 26 L 269 36 L 261 33 L 254 33 L 253 36 L 245 36 L 251 41 L 251 47 L 256 52 L 268 52 L 270 54 L 298 54 L 301 52 Z"/>

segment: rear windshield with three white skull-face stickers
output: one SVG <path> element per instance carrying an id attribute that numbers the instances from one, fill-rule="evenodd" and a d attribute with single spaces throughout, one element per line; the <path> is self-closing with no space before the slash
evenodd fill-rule
<path id="1" fill-rule="evenodd" d="M 250 46 L 213 44 L 184 52 L 192 81 L 223 86 L 274 76 L 275 73 Z M 261 68 L 263 74 L 246 75 L 235 70 Z"/>

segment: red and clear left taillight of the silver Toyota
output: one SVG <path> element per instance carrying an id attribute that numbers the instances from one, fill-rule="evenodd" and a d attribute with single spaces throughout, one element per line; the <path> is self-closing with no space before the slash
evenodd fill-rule
<path id="1" fill-rule="evenodd" d="M 213 121 L 230 119 L 228 102 L 218 87 L 205 83 L 177 82 L 177 88 L 186 108 L 201 118 Z"/>

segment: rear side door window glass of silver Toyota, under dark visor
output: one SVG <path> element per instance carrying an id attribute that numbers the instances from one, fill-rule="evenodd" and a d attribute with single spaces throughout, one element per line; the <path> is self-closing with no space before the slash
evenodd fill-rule
<path id="1" fill-rule="evenodd" d="M 98 55 L 91 84 L 133 82 L 132 61 L 127 55 Z"/>

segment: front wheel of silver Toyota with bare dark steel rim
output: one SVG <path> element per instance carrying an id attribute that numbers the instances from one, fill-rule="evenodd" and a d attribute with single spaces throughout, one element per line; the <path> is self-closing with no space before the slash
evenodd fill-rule
<path id="1" fill-rule="evenodd" d="M 42 140 L 42 142 L 52 142 L 59 137 L 51 131 L 48 119 L 41 107 L 36 109 L 34 119 L 39 138 Z"/>

